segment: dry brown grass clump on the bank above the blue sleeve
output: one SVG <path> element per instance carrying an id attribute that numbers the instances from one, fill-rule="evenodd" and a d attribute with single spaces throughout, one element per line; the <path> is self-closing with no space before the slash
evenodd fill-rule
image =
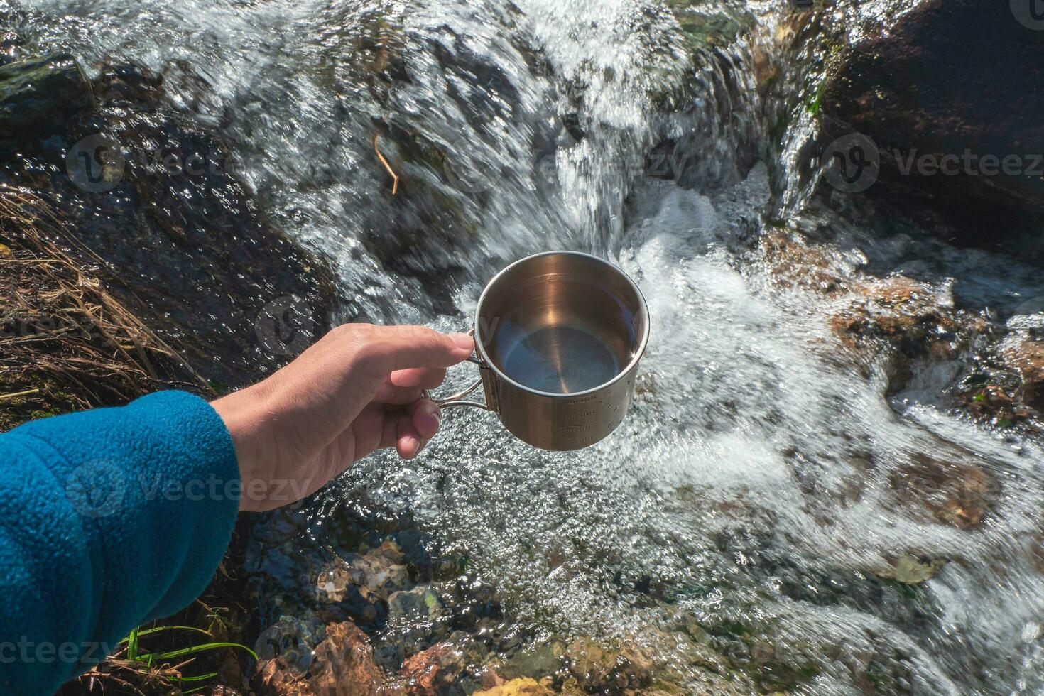
<path id="1" fill-rule="evenodd" d="M 0 185 L 0 430 L 207 382 L 89 274 L 104 262 L 31 192 Z"/>

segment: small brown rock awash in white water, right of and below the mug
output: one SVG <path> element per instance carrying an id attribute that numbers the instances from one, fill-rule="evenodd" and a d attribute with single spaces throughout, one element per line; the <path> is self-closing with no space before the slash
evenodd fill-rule
<path id="1" fill-rule="evenodd" d="M 945 461 L 917 454 L 888 478 L 901 500 L 925 506 L 940 522 L 970 529 L 982 521 L 998 484 L 973 463 Z"/>

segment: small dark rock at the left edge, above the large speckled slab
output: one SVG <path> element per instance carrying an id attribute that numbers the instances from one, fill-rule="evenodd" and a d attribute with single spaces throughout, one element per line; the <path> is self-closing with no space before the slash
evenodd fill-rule
<path id="1" fill-rule="evenodd" d="M 0 153 L 31 147 L 91 105 L 90 86 L 68 53 L 0 66 Z"/>

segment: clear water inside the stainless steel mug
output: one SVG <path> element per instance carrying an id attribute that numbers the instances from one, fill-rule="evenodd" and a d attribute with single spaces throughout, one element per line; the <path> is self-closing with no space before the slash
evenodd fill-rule
<path id="1" fill-rule="evenodd" d="M 547 274 L 522 283 L 494 317 L 487 351 L 530 389 L 575 393 L 598 387 L 631 362 L 639 337 L 624 303 L 596 279 Z"/>

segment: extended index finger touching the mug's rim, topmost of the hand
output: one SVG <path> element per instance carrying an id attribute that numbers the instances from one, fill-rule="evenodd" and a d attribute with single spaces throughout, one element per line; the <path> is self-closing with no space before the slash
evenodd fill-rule
<path id="1" fill-rule="evenodd" d="M 442 334 L 427 327 L 374 327 L 363 358 L 384 374 L 411 367 L 449 367 L 475 349 L 467 334 Z"/>

